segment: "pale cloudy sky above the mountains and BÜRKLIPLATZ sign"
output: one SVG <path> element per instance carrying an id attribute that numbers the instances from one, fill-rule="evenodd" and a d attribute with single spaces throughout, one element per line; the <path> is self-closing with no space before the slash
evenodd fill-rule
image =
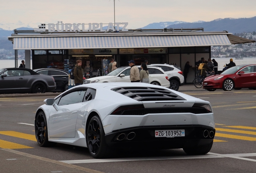
<path id="1" fill-rule="evenodd" d="M 0 28 L 38 28 L 41 23 L 209 22 L 256 16 L 256 0 L 0 0 Z M 115 10 L 114 10 L 115 7 Z M 115 11 L 115 15 L 114 15 Z"/>

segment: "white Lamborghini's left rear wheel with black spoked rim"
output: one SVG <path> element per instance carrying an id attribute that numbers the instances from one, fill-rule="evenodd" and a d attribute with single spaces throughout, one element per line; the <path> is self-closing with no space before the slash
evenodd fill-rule
<path id="1" fill-rule="evenodd" d="M 105 133 L 101 120 L 95 115 L 89 121 L 86 132 L 87 147 L 94 158 L 105 158 L 110 153 L 110 148 L 105 141 Z"/>

